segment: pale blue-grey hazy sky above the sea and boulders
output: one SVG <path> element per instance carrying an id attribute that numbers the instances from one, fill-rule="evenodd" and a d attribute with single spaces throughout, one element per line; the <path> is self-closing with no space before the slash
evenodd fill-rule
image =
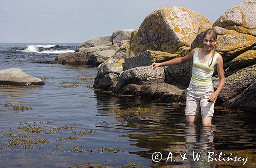
<path id="1" fill-rule="evenodd" d="M 179 6 L 214 23 L 238 0 L 0 0 L 0 42 L 82 43 L 138 29 L 156 9 Z"/>

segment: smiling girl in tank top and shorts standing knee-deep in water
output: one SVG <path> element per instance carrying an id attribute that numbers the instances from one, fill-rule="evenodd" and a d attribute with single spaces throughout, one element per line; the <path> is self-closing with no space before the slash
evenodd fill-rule
<path id="1" fill-rule="evenodd" d="M 208 29 L 203 34 L 203 48 L 195 48 L 187 55 L 162 63 L 153 63 L 153 69 L 161 66 L 182 64 L 193 59 L 192 77 L 186 89 L 185 115 L 187 122 L 195 122 L 201 107 L 202 124 L 211 125 L 214 116 L 214 103 L 225 84 L 223 59 L 216 52 L 217 33 Z M 219 85 L 214 92 L 211 76 L 217 67 Z"/>

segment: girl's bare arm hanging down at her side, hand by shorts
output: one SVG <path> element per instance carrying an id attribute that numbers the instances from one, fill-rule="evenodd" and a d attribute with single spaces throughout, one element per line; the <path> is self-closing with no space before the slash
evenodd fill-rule
<path id="1" fill-rule="evenodd" d="M 223 68 L 223 59 L 221 55 L 216 60 L 216 66 L 217 66 L 217 71 L 218 71 L 218 76 L 219 76 L 219 85 L 217 90 L 211 94 L 211 96 L 208 98 L 208 102 L 214 103 L 221 92 L 222 88 L 225 85 L 225 76 L 224 76 L 224 68 Z"/>

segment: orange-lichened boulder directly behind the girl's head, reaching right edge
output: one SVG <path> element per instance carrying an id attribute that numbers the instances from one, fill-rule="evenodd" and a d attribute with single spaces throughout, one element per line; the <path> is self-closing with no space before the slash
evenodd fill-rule
<path id="1" fill-rule="evenodd" d="M 224 62 L 232 60 L 256 44 L 256 37 L 254 36 L 226 30 L 221 27 L 212 27 L 212 29 L 218 34 L 216 50 L 222 54 Z M 203 47 L 202 36 L 203 32 L 198 34 L 191 44 L 191 49 Z"/>

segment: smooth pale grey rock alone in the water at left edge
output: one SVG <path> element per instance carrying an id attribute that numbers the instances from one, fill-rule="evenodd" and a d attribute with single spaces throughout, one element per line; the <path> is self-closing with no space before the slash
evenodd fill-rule
<path id="1" fill-rule="evenodd" d="M 29 86 L 45 85 L 41 79 L 26 74 L 19 68 L 10 68 L 0 71 L 0 85 Z"/>

